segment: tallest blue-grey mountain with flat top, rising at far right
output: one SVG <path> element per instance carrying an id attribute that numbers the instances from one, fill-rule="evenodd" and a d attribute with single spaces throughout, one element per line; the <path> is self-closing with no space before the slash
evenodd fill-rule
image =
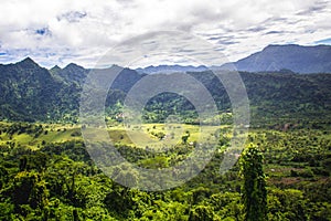
<path id="1" fill-rule="evenodd" d="M 254 53 L 233 63 L 238 71 L 275 72 L 290 70 L 296 73 L 330 73 L 331 46 L 268 45 L 263 51 Z M 222 66 L 231 69 L 229 64 Z"/>

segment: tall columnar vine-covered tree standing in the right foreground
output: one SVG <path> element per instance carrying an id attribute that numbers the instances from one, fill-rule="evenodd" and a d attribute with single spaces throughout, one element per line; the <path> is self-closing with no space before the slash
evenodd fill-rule
<path id="1" fill-rule="evenodd" d="M 243 201 L 245 220 L 267 220 L 267 190 L 263 171 L 263 156 L 253 144 L 244 150 L 241 167 L 244 178 Z"/>

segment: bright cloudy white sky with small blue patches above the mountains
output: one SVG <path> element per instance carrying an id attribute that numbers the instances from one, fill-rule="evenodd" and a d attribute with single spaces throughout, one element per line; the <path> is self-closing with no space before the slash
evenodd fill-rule
<path id="1" fill-rule="evenodd" d="M 0 63 L 30 56 L 45 67 L 93 67 L 115 45 L 158 31 L 199 38 L 228 61 L 268 44 L 331 44 L 329 0 L 1 0 L 0 6 Z M 184 49 L 182 43 L 168 42 Z M 191 64 L 169 57 L 149 64 L 171 62 Z"/>

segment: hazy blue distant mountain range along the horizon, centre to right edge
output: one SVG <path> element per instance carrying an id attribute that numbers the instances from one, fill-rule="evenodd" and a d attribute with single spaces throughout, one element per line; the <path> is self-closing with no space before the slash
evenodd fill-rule
<path id="1" fill-rule="evenodd" d="M 234 69 L 235 67 L 235 69 Z M 237 70 L 241 72 L 331 73 L 331 46 L 301 46 L 296 44 L 268 45 L 237 62 L 212 66 L 211 70 Z M 159 65 L 137 69 L 139 73 L 203 72 L 206 66 Z"/>

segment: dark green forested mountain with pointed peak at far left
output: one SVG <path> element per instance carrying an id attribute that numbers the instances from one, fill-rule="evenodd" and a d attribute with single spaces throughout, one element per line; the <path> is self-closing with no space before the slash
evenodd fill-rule
<path id="1" fill-rule="evenodd" d="M 78 87 L 54 77 L 30 57 L 0 66 L 0 116 L 17 120 L 61 118 L 77 108 Z"/>

